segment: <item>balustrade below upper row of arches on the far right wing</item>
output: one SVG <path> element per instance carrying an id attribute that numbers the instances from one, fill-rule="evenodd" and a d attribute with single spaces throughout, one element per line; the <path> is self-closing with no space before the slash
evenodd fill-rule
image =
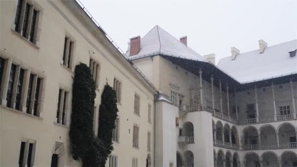
<path id="1" fill-rule="evenodd" d="M 277 149 L 277 148 L 297 148 L 297 142 L 290 143 L 282 143 L 277 146 L 277 144 L 273 145 L 245 145 L 243 146 L 246 150 L 257 150 L 257 149 Z"/>

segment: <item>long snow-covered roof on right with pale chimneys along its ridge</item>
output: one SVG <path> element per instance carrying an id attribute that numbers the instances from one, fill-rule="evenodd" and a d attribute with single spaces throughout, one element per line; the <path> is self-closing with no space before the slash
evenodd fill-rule
<path id="1" fill-rule="evenodd" d="M 223 58 L 217 66 L 230 74 L 241 84 L 297 74 L 297 55 L 290 57 L 297 49 L 297 40 L 266 47 L 259 50 Z"/>

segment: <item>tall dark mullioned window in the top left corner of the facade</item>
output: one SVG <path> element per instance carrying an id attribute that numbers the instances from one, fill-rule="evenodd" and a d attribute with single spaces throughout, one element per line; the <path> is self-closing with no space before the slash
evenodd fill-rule
<path id="1" fill-rule="evenodd" d="M 15 31 L 32 43 L 36 43 L 40 10 L 29 0 L 19 0 L 15 18 Z"/>

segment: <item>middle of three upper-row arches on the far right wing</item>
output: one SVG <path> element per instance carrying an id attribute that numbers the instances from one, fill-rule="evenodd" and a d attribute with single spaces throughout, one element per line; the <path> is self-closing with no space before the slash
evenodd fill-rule
<path id="1" fill-rule="evenodd" d="M 273 125 L 263 125 L 259 129 L 260 143 L 263 148 L 277 148 L 276 128 Z"/>

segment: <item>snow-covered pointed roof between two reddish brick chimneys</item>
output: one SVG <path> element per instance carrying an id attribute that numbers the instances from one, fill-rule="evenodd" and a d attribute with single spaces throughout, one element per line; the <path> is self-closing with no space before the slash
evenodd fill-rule
<path id="1" fill-rule="evenodd" d="M 174 38 L 158 25 L 154 26 L 148 34 L 141 39 L 140 51 L 137 55 L 129 57 L 129 50 L 126 53 L 129 60 L 157 54 L 208 62 L 204 57 Z"/>

